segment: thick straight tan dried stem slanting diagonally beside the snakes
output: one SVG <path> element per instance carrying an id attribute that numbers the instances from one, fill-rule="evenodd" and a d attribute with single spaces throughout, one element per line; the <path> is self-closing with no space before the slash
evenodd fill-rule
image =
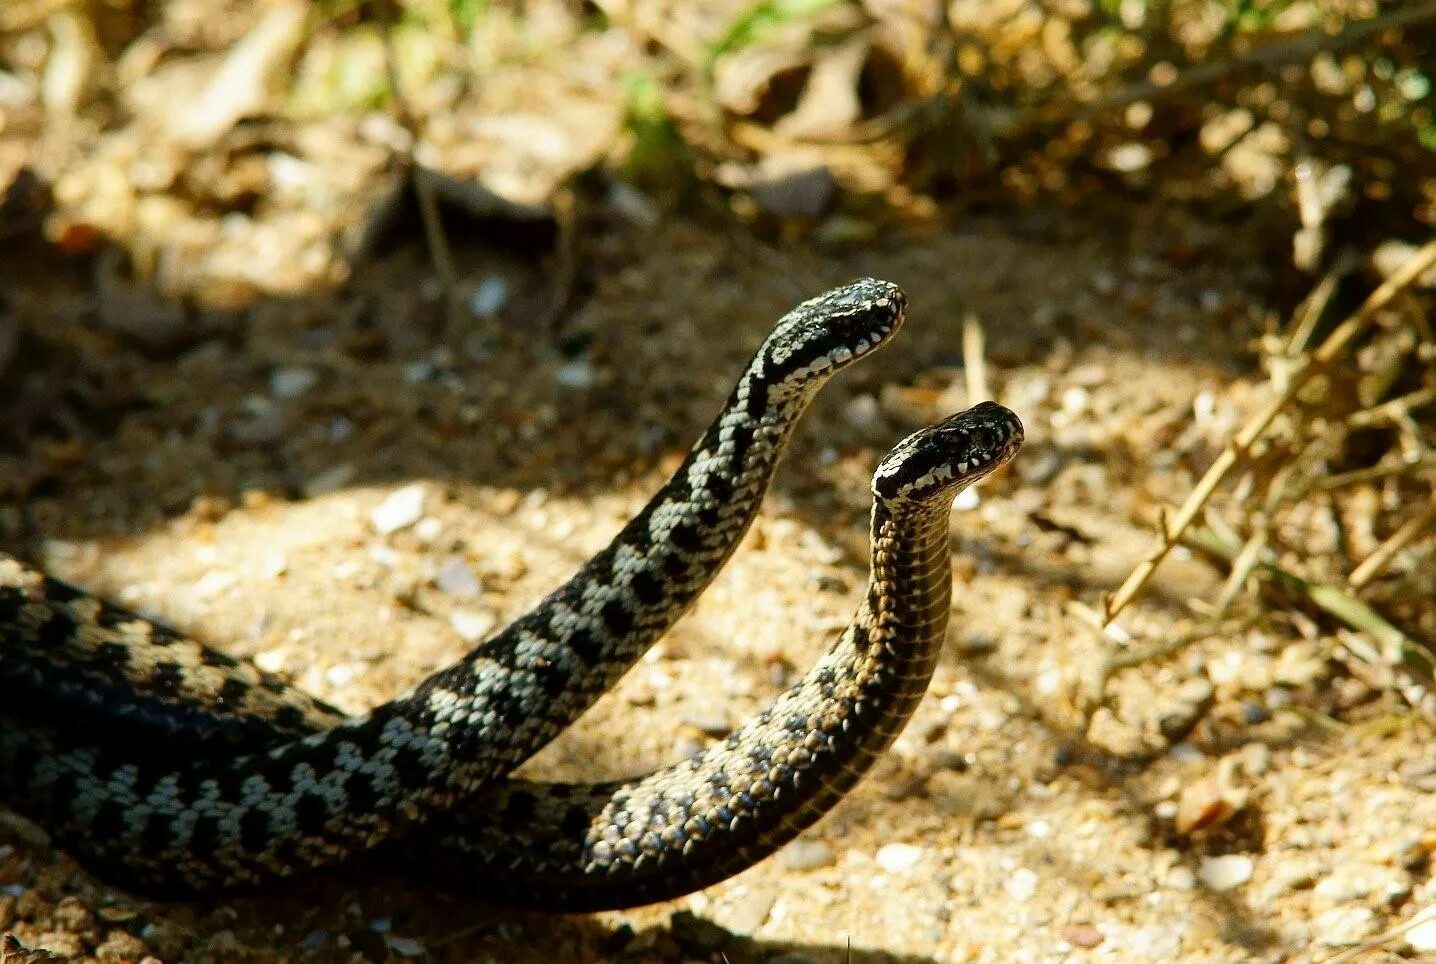
<path id="1" fill-rule="evenodd" d="M 1321 343 L 1321 346 L 1313 352 L 1310 359 L 1298 361 L 1292 369 L 1288 372 L 1287 385 L 1269 401 L 1256 415 L 1248 421 L 1239 432 L 1226 444 L 1222 454 L 1216 457 L 1206 474 L 1188 496 L 1186 501 L 1178 510 L 1176 516 L 1163 520 L 1162 524 L 1162 539 L 1159 544 L 1137 563 L 1137 567 L 1132 570 L 1126 582 L 1117 589 L 1116 593 L 1107 601 L 1104 625 L 1110 624 L 1117 615 L 1126 609 L 1136 595 L 1146 586 L 1147 580 L 1166 559 L 1172 547 L 1180 542 L 1182 534 L 1188 530 L 1196 514 L 1206 506 L 1206 501 L 1216 491 L 1216 487 L 1222 483 L 1226 474 L 1242 461 L 1246 451 L 1261 438 L 1267 427 L 1271 425 L 1272 420 L 1291 402 L 1295 394 L 1307 382 L 1311 375 L 1320 368 L 1330 365 L 1333 361 L 1341 356 L 1341 353 L 1351 345 L 1356 338 L 1364 332 L 1374 320 L 1377 312 L 1380 312 L 1396 295 L 1403 292 L 1407 286 L 1416 282 L 1422 273 L 1436 264 L 1436 241 L 1427 241 L 1406 264 L 1402 270 L 1391 274 L 1379 289 L 1376 289 L 1366 303 L 1361 305 L 1350 318 L 1347 318 L 1341 325 L 1337 326 L 1331 335 Z M 1234 550 L 1235 555 L 1235 550 Z"/>

